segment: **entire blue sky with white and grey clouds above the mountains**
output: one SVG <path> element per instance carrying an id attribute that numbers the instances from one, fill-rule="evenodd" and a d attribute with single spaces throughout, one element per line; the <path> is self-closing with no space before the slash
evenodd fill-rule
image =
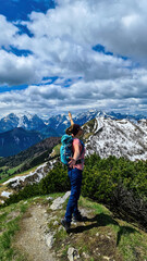
<path id="1" fill-rule="evenodd" d="M 0 116 L 147 115 L 144 0 L 0 0 Z"/>

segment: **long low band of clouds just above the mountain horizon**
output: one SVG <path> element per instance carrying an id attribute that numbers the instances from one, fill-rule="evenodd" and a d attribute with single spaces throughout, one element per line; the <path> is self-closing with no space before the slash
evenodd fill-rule
<path id="1" fill-rule="evenodd" d="M 143 111 L 147 110 L 146 71 L 135 73 L 134 79 L 97 79 L 85 82 L 78 79 L 70 87 L 60 85 L 30 85 L 25 90 L 4 92 L 0 96 L 0 109 L 11 108 L 15 111 L 27 110 L 33 113 L 81 110 L 98 108 L 101 110 Z M 138 91 L 138 86 L 142 91 Z"/>

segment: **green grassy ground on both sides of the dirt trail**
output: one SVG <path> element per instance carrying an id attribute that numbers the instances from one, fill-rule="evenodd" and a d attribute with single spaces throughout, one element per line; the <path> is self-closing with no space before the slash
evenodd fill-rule
<path id="1" fill-rule="evenodd" d="M 27 208 L 33 203 L 49 204 L 47 198 L 53 199 L 64 194 L 33 197 L 27 201 L 11 204 L 0 210 L 0 260 L 26 261 L 24 253 L 12 248 L 19 224 Z M 25 203 L 24 203 L 25 202 Z M 68 200 L 63 208 L 53 212 L 54 220 L 48 220 L 48 227 L 56 231 L 53 251 L 59 254 L 59 260 L 68 261 L 68 249 L 74 247 L 78 250 L 81 260 L 103 261 L 103 257 L 113 257 L 115 261 L 145 261 L 147 260 L 147 234 L 134 225 L 114 219 L 112 213 L 102 204 L 81 197 L 79 209 L 87 211 L 89 220 L 85 223 L 72 224 L 71 234 L 60 227 L 60 220 L 64 216 Z M 90 212 L 89 212 L 90 211 Z M 13 212 L 17 216 L 12 219 Z M 52 211 L 48 207 L 48 214 Z M 57 216 L 57 217 L 56 217 Z M 53 224 L 58 221 L 59 225 Z M 59 229 L 60 228 L 60 229 Z M 87 254 L 87 259 L 83 257 Z M 100 256 L 98 256 L 100 254 Z M 15 259 L 13 259 L 15 257 Z"/>

